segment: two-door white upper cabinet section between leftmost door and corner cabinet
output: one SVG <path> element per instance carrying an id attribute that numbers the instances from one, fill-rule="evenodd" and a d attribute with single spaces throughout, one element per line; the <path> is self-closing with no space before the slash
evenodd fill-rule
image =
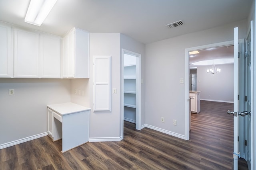
<path id="1" fill-rule="evenodd" d="M 14 77 L 60 78 L 61 37 L 14 28 Z"/>

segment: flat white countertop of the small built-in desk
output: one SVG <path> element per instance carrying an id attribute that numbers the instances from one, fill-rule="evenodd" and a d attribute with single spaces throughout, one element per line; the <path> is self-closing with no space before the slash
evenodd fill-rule
<path id="1" fill-rule="evenodd" d="M 90 110 L 90 108 L 88 108 L 88 107 L 84 107 L 84 106 L 74 104 L 74 103 L 71 103 L 71 102 L 70 103 L 47 105 L 47 107 L 52 109 L 53 111 L 55 111 L 56 113 L 58 113 L 62 116 Z"/>

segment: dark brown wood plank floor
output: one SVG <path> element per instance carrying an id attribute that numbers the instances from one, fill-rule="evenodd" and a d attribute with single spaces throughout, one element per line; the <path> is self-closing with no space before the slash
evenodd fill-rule
<path id="1" fill-rule="evenodd" d="M 61 153 L 61 140 L 46 136 L 0 150 L 1 170 L 231 170 L 233 118 L 229 103 L 201 101 L 192 114 L 190 140 L 124 123 L 120 142 L 86 143 Z M 244 162 L 243 162 L 244 163 Z M 240 166 L 246 169 L 246 164 Z"/>

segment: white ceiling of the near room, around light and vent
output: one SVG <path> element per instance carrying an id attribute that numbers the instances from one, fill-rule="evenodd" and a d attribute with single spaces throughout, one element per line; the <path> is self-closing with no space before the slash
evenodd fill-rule
<path id="1" fill-rule="evenodd" d="M 38 27 L 24 22 L 29 2 L 0 0 L 0 20 L 60 36 L 72 27 L 123 33 L 145 44 L 245 19 L 252 5 L 252 0 L 58 0 Z M 184 25 L 165 26 L 178 20 Z"/>

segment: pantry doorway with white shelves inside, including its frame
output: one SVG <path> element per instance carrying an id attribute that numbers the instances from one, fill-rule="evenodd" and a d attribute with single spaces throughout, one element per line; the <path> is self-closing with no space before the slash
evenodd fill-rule
<path id="1" fill-rule="evenodd" d="M 141 55 L 122 49 L 122 137 L 124 121 L 135 123 L 141 129 Z"/>

